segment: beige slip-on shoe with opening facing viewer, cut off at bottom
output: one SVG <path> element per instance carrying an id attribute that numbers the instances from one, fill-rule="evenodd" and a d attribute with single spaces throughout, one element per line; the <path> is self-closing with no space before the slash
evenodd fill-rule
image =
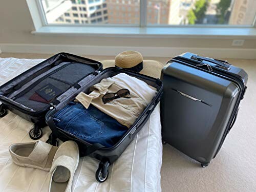
<path id="1" fill-rule="evenodd" d="M 76 142 L 61 144 L 53 158 L 48 191 L 71 191 L 75 170 L 79 163 L 79 148 Z"/>

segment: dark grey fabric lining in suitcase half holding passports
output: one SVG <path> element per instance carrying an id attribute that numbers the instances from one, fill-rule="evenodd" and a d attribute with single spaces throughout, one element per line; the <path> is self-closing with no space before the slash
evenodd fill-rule
<path id="1" fill-rule="evenodd" d="M 63 62 L 32 79 L 25 86 L 10 94 L 8 98 L 25 105 L 27 108 L 31 108 L 32 111 L 41 111 L 49 108 L 50 104 L 30 100 L 29 98 L 36 90 L 51 83 L 64 93 L 79 82 L 79 80 L 84 79 L 84 77 L 94 71 L 93 67 L 84 63 Z"/>

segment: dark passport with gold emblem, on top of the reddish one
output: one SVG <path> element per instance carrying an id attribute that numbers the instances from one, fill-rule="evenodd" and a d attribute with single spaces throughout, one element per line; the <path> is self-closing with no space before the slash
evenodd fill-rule
<path id="1" fill-rule="evenodd" d="M 62 93 L 61 90 L 53 86 L 51 83 L 48 83 L 46 86 L 41 87 L 35 92 L 48 102 Z"/>

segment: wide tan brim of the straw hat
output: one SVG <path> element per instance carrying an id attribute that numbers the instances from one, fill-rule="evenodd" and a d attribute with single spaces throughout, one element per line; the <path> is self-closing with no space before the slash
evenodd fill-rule
<path id="1" fill-rule="evenodd" d="M 115 67 L 115 60 L 102 60 L 103 69 Z M 156 60 L 143 60 L 143 69 L 139 72 L 143 75 L 160 78 L 163 64 Z"/>

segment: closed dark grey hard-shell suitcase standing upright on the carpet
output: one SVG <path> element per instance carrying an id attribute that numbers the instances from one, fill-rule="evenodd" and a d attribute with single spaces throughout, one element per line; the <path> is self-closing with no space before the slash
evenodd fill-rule
<path id="1" fill-rule="evenodd" d="M 209 164 L 236 121 L 247 73 L 227 61 L 184 53 L 162 69 L 163 143 Z"/>

